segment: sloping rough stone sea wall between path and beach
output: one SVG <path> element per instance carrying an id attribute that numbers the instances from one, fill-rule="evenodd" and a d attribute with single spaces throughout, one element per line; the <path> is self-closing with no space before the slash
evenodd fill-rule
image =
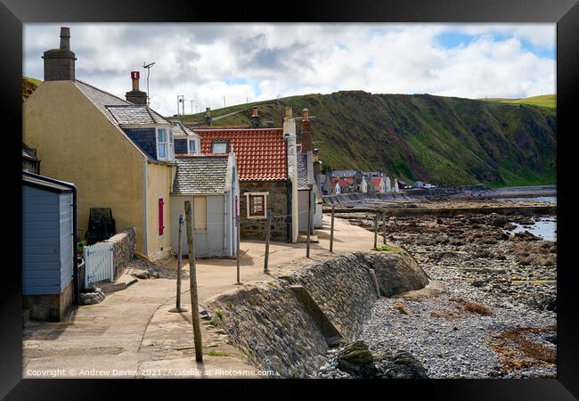
<path id="1" fill-rule="evenodd" d="M 342 336 L 356 340 L 378 299 L 370 269 L 384 295 L 418 290 L 428 283 L 404 250 L 355 252 L 311 261 L 271 282 L 219 295 L 208 307 L 224 313 L 224 330 L 257 368 L 281 377 L 307 377 L 325 362 L 327 339 L 290 285 L 304 286 Z"/>

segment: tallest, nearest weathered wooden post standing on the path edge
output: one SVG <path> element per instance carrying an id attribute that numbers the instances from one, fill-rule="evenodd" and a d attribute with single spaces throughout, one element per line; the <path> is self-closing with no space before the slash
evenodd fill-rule
<path id="1" fill-rule="evenodd" d="M 203 362 L 201 344 L 201 325 L 199 320 L 199 299 L 197 295 L 197 271 L 195 266 L 195 241 L 193 238 L 193 210 L 191 201 L 185 201 L 185 221 L 187 229 L 187 246 L 189 248 L 189 290 L 191 291 L 191 315 L 193 336 L 195 340 L 195 360 Z"/>

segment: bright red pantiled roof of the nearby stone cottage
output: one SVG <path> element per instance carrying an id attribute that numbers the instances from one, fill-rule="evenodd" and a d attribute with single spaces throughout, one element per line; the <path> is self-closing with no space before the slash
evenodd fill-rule
<path id="1" fill-rule="evenodd" d="M 288 179 L 286 143 L 281 128 L 196 129 L 201 152 L 210 153 L 213 141 L 228 141 L 235 152 L 241 181 Z"/>

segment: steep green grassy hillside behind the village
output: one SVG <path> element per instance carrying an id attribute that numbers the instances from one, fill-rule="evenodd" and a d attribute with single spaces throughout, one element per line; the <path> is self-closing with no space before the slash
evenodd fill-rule
<path id="1" fill-rule="evenodd" d="M 307 108 L 320 159 L 334 169 L 385 170 L 438 185 L 555 183 L 556 110 L 429 94 L 346 91 L 306 94 L 212 110 L 241 112 L 215 126 L 249 124 L 257 104 L 263 120 L 281 127 L 285 106 Z M 183 116 L 201 121 L 202 113 Z M 298 130 L 299 130 L 298 122 Z"/>

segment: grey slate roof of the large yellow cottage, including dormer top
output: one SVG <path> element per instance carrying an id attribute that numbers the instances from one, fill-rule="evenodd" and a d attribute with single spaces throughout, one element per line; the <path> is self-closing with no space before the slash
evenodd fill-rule
<path id="1" fill-rule="evenodd" d="M 169 124 L 157 111 L 145 105 L 137 105 L 103 91 L 86 82 L 75 80 L 77 88 L 85 94 L 113 124 Z"/>

